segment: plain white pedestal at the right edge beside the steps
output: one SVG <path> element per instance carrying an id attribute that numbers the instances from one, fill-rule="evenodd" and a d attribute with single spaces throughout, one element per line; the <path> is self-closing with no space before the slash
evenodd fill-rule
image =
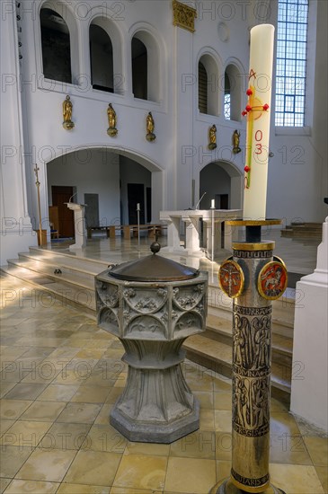
<path id="1" fill-rule="evenodd" d="M 290 410 L 328 430 L 328 217 L 315 272 L 297 282 Z"/>

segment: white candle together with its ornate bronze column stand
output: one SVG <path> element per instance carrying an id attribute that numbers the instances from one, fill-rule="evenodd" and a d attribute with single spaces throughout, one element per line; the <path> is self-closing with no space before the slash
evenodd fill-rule
<path id="1" fill-rule="evenodd" d="M 234 255 L 221 263 L 221 289 L 233 298 L 232 468 L 212 494 L 284 494 L 270 483 L 270 348 L 272 300 L 286 290 L 288 273 L 273 256 L 274 242 L 262 241 L 262 226 L 279 225 L 265 219 L 270 92 L 273 55 L 270 25 L 251 31 L 251 57 L 244 177 L 245 242 L 233 243 Z"/>

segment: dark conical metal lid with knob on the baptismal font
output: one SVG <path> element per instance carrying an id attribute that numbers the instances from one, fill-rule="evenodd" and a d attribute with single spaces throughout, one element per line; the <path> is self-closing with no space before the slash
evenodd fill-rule
<path id="1" fill-rule="evenodd" d="M 150 250 L 153 252 L 139 260 L 123 262 L 112 268 L 109 276 L 127 281 L 180 281 L 199 276 L 199 270 L 183 266 L 175 260 L 156 256 L 161 246 L 153 242 Z"/>

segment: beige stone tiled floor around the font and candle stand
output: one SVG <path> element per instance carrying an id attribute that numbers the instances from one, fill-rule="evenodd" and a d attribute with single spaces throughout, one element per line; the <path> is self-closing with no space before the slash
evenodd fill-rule
<path id="1" fill-rule="evenodd" d="M 130 443 L 108 421 L 127 375 L 120 341 L 17 278 L 1 282 L 1 492 L 206 494 L 228 475 L 226 378 L 185 362 L 199 431 L 171 445 Z M 270 474 L 287 494 L 328 492 L 327 439 L 275 400 Z"/>

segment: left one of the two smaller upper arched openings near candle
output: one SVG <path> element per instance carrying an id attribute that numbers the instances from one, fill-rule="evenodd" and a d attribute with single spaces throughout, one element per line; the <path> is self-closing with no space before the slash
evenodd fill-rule
<path id="1" fill-rule="evenodd" d="M 207 54 L 199 58 L 198 90 L 199 111 L 208 115 L 219 114 L 219 84 L 218 66 L 216 59 Z"/>

